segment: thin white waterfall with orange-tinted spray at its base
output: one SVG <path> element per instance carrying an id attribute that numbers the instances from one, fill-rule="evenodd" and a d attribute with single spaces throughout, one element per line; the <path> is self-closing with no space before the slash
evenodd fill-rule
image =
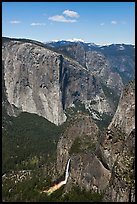
<path id="1" fill-rule="evenodd" d="M 61 186 L 65 185 L 69 177 L 69 166 L 70 166 L 70 159 L 68 160 L 67 167 L 66 167 L 65 180 L 59 182 L 58 184 L 55 184 L 54 186 L 51 186 L 48 190 L 42 191 L 42 193 L 47 193 L 47 195 L 50 195 L 54 191 L 58 190 Z"/>

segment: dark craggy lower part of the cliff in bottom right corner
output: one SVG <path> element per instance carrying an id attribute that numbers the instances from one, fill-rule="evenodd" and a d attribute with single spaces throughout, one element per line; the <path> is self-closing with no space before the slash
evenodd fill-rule
<path id="1" fill-rule="evenodd" d="M 113 166 L 104 201 L 135 202 L 135 131 L 123 142 L 112 143 L 110 148 Z"/>

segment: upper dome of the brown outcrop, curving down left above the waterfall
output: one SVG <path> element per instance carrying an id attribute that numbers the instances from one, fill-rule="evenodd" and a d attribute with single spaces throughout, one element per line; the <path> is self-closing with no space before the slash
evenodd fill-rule
<path id="1" fill-rule="evenodd" d="M 77 114 L 60 138 L 57 147 L 57 169 L 62 173 L 65 169 L 64 163 L 67 162 L 69 155 L 74 152 L 83 152 L 86 146 L 90 148 L 92 143 L 95 150 L 99 129 L 87 115 Z M 88 142 L 90 141 L 90 142 Z M 73 143 L 74 148 L 71 149 Z M 87 142 L 87 144 L 86 144 Z M 88 144 L 89 143 L 89 144 Z"/>

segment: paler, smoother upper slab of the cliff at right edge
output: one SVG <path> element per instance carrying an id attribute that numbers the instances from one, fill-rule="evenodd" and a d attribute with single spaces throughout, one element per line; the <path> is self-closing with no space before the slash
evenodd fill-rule
<path id="1" fill-rule="evenodd" d="M 131 132 L 135 129 L 135 81 L 125 86 L 116 113 L 109 124 L 103 143 L 110 168 L 124 146 Z M 134 147 L 133 147 L 134 148 Z M 113 157 L 112 157 L 113 155 Z"/>

